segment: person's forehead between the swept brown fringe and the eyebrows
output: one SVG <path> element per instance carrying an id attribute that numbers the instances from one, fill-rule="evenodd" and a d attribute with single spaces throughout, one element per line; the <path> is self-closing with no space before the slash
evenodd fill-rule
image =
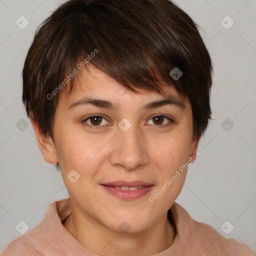
<path id="1" fill-rule="evenodd" d="M 141 102 L 165 99 L 180 108 L 184 108 L 186 104 L 189 104 L 187 97 L 179 95 L 172 85 L 162 83 L 162 88 L 164 95 L 154 91 L 145 91 L 140 88 L 136 88 L 139 92 L 136 93 L 124 87 L 103 71 L 88 65 L 86 69 L 81 69 L 75 77 L 72 91 L 69 93 L 69 90 L 66 88 L 61 93 L 62 95 L 59 95 L 59 103 L 64 102 L 69 108 L 85 101 L 91 101 L 91 99 L 94 102 L 97 99 L 106 99 L 106 101 L 111 101 L 111 106 L 107 108 L 115 108 L 115 110 L 120 109 L 121 105 L 125 104 L 125 100 L 132 101 L 132 104 L 140 104 Z M 102 104 L 107 105 L 108 102 L 100 104 L 98 103 L 98 106 L 101 107 Z M 158 105 L 151 104 L 147 106 L 148 108 L 152 108 Z"/>

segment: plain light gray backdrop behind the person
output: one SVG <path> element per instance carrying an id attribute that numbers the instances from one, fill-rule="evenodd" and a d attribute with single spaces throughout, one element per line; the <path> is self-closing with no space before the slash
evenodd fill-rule
<path id="1" fill-rule="evenodd" d="M 68 197 L 60 173 L 39 151 L 21 102 L 21 70 L 35 28 L 62 2 L 0 0 L 0 251 L 20 236 L 15 226 L 21 220 L 31 230 L 51 202 Z M 256 1 L 176 2 L 203 28 L 214 65 L 213 120 L 176 201 L 192 218 L 256 251 Z M 29 21 L 24 29 L 15 24 L 21 15 Z M 226 15 L 234 21 L 229 29 L 220 22 Z M 16 125 L 21 118 L 28 127 Z M 234 226 L 229 234 L 220 228 L 226 220 Z"/>

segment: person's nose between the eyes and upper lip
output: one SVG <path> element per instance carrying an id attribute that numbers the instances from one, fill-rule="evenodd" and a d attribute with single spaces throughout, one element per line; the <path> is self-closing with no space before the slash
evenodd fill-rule
<path id="1" fill-rule="evenodd" d="M 112 141 L 111 164 L 128 171 L 148 165 L 149 149 L 145 140 L 145 134 L 136 125 L 131 125 L 126 131 L 118 127 Z"/>

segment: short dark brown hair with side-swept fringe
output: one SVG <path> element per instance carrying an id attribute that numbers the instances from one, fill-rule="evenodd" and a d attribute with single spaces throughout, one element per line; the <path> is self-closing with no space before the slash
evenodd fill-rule
<path id="1" fill-rule="evenodd" d="M 163 94 L 162 81 L 188 97 L 199 138 L 211 119 L 212 64 L 198 26 L 170 0 L 68 0 L 37 28 L 25 58 L 26 113 L 52 134 L 59 93 L 47 95 L 95 49 L 89 63 L 121 85 Z M 177 67 L 182 75 L 169 73 Z M 69 92 L 75 77 L 68 81 Z M 61 86 L 62 87 L 62 86 Z"/>

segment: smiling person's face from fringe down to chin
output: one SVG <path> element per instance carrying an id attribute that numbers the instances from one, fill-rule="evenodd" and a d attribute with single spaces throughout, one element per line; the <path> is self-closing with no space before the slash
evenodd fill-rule
<path id="1" fill-rule="evenodd" d="M 166 214 L 184 183 L 180 166 L 196 153 L 190 103 L 175 104 L 171 89 L 172 103 L 152 104 L 163 96 L 136 94 L 93 67 L 79 85 L 59 97 L 44 158 L 58 161 L 73 212 L 114 231 L 143 231 Z"/>

